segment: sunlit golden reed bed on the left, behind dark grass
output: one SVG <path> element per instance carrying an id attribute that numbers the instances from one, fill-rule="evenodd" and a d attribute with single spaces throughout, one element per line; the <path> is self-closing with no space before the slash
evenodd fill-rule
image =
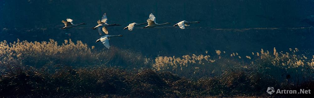
<path id="1" fill-rule="evenodd" d="M 92 46 L 93 49 L 93 46 Z M 50 39 L 49 42 L 19 41 L 0 43 L 0 60 L 3 63 L 15 62 L 30 66 L 52 66 L 56 64 L 117 65 L 132 67 L 145 66 L 150 61 L 140 53 L 112 47 L 110 50 L 92 51 L 82 41 L 64 40 L 61 45 Z"/>

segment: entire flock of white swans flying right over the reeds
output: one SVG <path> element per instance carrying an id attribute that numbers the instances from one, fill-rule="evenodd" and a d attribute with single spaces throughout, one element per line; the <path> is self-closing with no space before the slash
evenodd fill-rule
<path id="1" fill-rule="evenodd" d="M 106 13 L 104 13 L 104 15 L 102 15 L 101 17 L 101 21 L 98 20 L 97 23 L 98 25 L 93 27 L 92 29 L 97 29 L 98 32 L 99 32 L 99 35 L 102 35 L 102 33 L 104 32 L 105 36 L 102 36 L 100 37 L 96 42 L 102 42 L 102 44 L 106 47 L 106 48 L 110 48 L 110 45 L 109 45 L 109 40 L 111 37 L 123 37 L 122 35 L 108 35 L 108 30 L 107 30 L 107 27 L 113 27 L 113 26 L 121 26 L 120 24 L 108 24 L 107 23 L 107 15 Z M 144 25 L 144 24 L 148 24 L 147 26 L 143 27 L 143 28 L 153 28 L 153 27 L 156 27 L 156 26 L 162 26 L 162 25 L 167 25 L 167 24 L 170 24 L 169 22 L 167 23 L 162 23 L 162 24 L 158 24 L 156 23 L 156 17 L 150 13 L 149 14 L 149 19 L 146 20 L 147 22 L 146 23 L 130 23 L 127 27 L 124 28 L 125 29 L 128 29 L 129 31 L 132 31 L 134 29 L 135 26 L 139 26 L 139 25 Z M 80 24 L 73 24 L 73 20 L 70 19 L 70 18 L 67 18 L 67 22 L 66 21 L 61 21 L 64 23 L 65 27 L 62 27 L 61 29 L 68 29 L 68 28 L 72 28 L 72 27 L 76 27 L 76 26 L 79 26 L 79 25 L 85 25 L 86 23 L 80 23 Z M 181 29 L 185 29 L 186 26 L 190 26 L 189 24 L 190 23 L 199 23 L 198 21 L 196 22 L 188 22 L 188 21 L 181 21 L 175 25 L 173 25 L 174 27 L 176 26 L 179 26 Z"/>

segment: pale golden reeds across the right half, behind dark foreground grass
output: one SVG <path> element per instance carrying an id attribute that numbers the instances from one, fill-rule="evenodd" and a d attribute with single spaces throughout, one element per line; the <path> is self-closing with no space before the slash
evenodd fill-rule
<path id="1" fill-rule="evenodd" d="M 214 73 L 222 73 L 226 69 L 250 70 L 256 69 L 260 72 L 266 72 L 281 81 L 306 81 L 312 72 L 314 72 L 314 56 L 310 58 L 298 53 L 295 48 L 290 49 L 290 52 L 278 52 L 276 48 L 273 53 L 264 51 L 252 52 L 252 56 L 241 56 L 236 53 L 231 53 L 231 57 L 221 54 L 221 51 L 216 50 L 216 56 L 209 55 L 185 55 L 182 57 L 175 56 L 159 56 L 155 58 L 153 68 L 157 71 L 171 71 L 182 76 L 210 76 Z M 242 60 L 247 59 L 247 60 Z M 244 69 L 243 69 L 244 68 Z M 279 73 L 278 73 L 279 72 Z M 291 77 L 288 80 L 286 77 Z"/>

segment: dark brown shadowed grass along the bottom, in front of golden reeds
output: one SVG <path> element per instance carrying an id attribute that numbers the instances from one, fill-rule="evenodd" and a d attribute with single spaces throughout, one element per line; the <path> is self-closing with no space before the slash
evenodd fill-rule
<path id="1" fill-rule="evenodd" d="M 269 97 L 265 93 L 268 86 L 284 89 L 314 87 L 313 81 L 287 85 L 258 72 L 241 70 L 191 81 L 169 71 L 155 72 L 145 68 L 131 71 L 118 67 L 56 65 L 56 70 L 52 71 L 3 63 L 1 67 L 2 97 Z"/>

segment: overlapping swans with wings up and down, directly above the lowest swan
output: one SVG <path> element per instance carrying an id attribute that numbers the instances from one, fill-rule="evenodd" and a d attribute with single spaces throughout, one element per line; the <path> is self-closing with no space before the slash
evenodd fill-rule
<path id="1" fill-rule="evenodd" d="M 98 30 L 99 35 L 102 34 L 102 32 L 104 32 L 105 34 L 108 34 L 108 30 L 107 27 L 112 27 L 112 26 L 121 26 L 120 24 L 108 24 L 107 23 L 107 15 L 106 13 L 104 13 L 104 15 L 102 15 L 101 17 L 101 21 L 98 20 L 97 23 L 98 25 L 92 29 L 96 29 Z"/>

